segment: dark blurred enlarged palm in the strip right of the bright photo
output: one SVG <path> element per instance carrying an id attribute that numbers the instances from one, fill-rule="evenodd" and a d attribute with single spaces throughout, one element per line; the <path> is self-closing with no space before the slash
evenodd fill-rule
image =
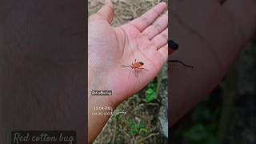
<path id="1" fill-rule="evenodd" d="M 170 63 L 170 125 L 209 94 L 254 36 L 254 0 L 185 0 L 170 5 L 170 37 L 179 49 L 172 55 L 194 66 Z"/>

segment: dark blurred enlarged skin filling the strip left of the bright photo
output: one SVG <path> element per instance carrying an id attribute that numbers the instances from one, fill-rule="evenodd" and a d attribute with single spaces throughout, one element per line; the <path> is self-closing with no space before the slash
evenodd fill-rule
<path id="1" fill-rule="evenodd" d="M 0 1 L 0 143 L 12 130 L 75 130 L 86 143 L 85 10 L 85 1 Z"/>

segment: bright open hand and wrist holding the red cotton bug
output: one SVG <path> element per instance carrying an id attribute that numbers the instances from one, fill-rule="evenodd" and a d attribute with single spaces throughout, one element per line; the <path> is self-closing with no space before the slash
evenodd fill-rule
<path id="1" fill-rule="evenodd" d="M 107 0 L 102 9 L 92 14 L 88 22 L 88 142 L 92 142 L 106 124 L 109 116 L 94 116 L 94 106 L 112 106 L 113 109 L 142 90 L 162 69 L 168 57 L 168 12 L 161 2 L 140 18 L 112 27 L 114 6 Z M 162 16 L 160 17 L 160 14 Z M 107 37 L 106 37 L 107 36 Z M 146 70 L 122 67 L 143 62 Z M 112 96 L 91 96 L 91 90 L 112 90 Z"/>

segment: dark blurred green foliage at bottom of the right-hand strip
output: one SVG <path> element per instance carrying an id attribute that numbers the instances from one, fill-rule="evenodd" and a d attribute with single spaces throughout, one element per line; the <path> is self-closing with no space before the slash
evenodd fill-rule
<path id="1" fill-rule="evenodd" d="M 213 97 L 207 97 L 192 113 L 194 125 L 183 133 L 189 144 L 218 144 L 218 109 L 210 107 Z"/>

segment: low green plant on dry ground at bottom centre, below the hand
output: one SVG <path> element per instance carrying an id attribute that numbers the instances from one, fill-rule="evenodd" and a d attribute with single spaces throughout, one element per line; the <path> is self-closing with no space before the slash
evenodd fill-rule
<path id="1" fill-rule="evenodd" d="M 143 121 L 136 123 L 132 120 L 129 120 L 128 127 L 130 129 L 129 133 L 132 135 L 138 135 L 138 134 L 146 135 L 149 133 L 149 130 L 146 129 L 145 122 Z"/>

